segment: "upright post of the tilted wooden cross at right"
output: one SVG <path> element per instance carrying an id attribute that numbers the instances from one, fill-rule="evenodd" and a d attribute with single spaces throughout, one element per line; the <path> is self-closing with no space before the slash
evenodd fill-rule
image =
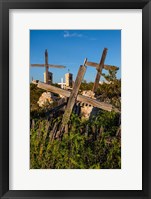
<path id="1" fill-rule="evenodd" d="M 101 74 L 102 74 L 102 69 L 104 67 L 104 61 L 105 61 L 105 58 L 106 58 L 106 54 L 107 54 L 107 48 L 104 48 L 103 53 L 102 53 L 102 57 L 101 57 L 101 60 L 100 60 L 100 64 L 97 68 L 98 72 L 97 72 L 95 82 L 94 82 L 94 86 L 93 86 L 93 89 L 92 89 L 93 92 L 96 92 L 96 90 L 98 88 L 100 77 L 101 77 Z"/>

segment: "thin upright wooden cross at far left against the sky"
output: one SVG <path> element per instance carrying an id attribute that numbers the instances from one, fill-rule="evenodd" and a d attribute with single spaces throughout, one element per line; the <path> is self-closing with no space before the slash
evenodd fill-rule
<path id="1" fill-rule="evenodd" d="M 45 50 L 45 64 L 31 64 L 32 67 L 45 67 L 46 84 L 48 84 L 48 68 L 65 68 L 62 65 L 48 64 L 48 51 Z"/>

